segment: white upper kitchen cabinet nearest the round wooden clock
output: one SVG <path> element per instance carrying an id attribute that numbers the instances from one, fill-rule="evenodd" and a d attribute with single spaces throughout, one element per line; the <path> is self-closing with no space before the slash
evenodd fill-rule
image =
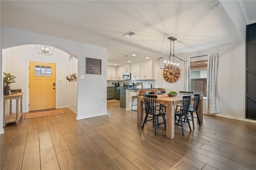
<path id="1" fill-rule="evenodd" d="M 155 79 L 155 63 L 152 61 L 146 61 L 140 63 L 140 80 Z"/>

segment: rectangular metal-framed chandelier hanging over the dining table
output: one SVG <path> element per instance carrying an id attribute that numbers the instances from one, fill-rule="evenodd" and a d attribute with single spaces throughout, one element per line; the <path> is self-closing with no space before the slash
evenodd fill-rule
<path id="1" fill-rule="evenodd" d="M 177 39 L 174 37 L 168 37 L 170 39 L 170 54 L 164 57 L 158 58 L 158 62 L 161 69 L 166 70 L 183 70 L 185 61 L 174 55 L 174 41 Z M 173 41 L 173 52 L 172 52 Z"/>

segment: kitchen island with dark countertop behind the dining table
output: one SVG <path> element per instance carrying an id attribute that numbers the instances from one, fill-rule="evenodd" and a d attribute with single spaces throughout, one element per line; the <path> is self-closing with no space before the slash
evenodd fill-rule
<path id="1" fill-rule="evenodd" d="M 120 107 L 125 108 L 126 110 L 132 110 L 132 96 L 138 95 L 139 91 L 146 89 L 147 92 L 150 92 L 152 89 L 161 89 L 161 88 L 127 88 L 119 87 L 120 89 Z M 134 104 L 137 103 L 137 99 L 134 98 Z M 134 106 L 133 109 L 137 109 L 137 106 Z"/>

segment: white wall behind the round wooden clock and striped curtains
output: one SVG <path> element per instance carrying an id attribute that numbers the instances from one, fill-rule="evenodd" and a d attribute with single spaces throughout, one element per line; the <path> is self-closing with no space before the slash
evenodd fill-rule
<path id="1" fill-rule="evenodd" d="M 220 113 L 218 115 L 234 119 L 245 119 L 245 43 L 229 45 L 177 55 L 181 59 L 219 53 L 218 95 Z M 158 64 L 158 61 L 156 61 Z M 156 66 L 156 75 L 162 76 L 160 66 Z M 180 91 L 184 89 L 184 70 L 179 80 L 167 83 L 163 80 L 163 88 Z M 167 91 L 168 91 L 167 90 Z M 254 122 L 254 120 L 248 120 Z M 256 122 L 256 121 L 255 121 Z"/>

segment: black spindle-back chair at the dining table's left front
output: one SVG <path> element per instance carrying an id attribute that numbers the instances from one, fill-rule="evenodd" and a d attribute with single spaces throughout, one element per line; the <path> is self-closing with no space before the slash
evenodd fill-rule
<path id="1" fill-rule="evenodd" d="M 157 111 L 156 110 L 156 99 L 157 96 L 155 95 L 146 95 L 143 94 L 143 98 L 144 98 L 144 105 L 145 105 L 145 119 L 142 125 L 142 129 L 144 128 L 144 125 L 147 121 L 152 121 L 153 122 L 153 126 L 155 126 L 155 135 L 157 134 L 156 129 L 159 125 L 164 124 L 165 129 L 166 129 L 166 119 L 165 119 L 165 112 L 163 111 Z M 151 115 L 152 117 L 150 117 L 150 119 L 148 119 L 148 115 Z M 158 116 L 162 116 L 164 123 L 159 123 L 158 122 Z"/>

